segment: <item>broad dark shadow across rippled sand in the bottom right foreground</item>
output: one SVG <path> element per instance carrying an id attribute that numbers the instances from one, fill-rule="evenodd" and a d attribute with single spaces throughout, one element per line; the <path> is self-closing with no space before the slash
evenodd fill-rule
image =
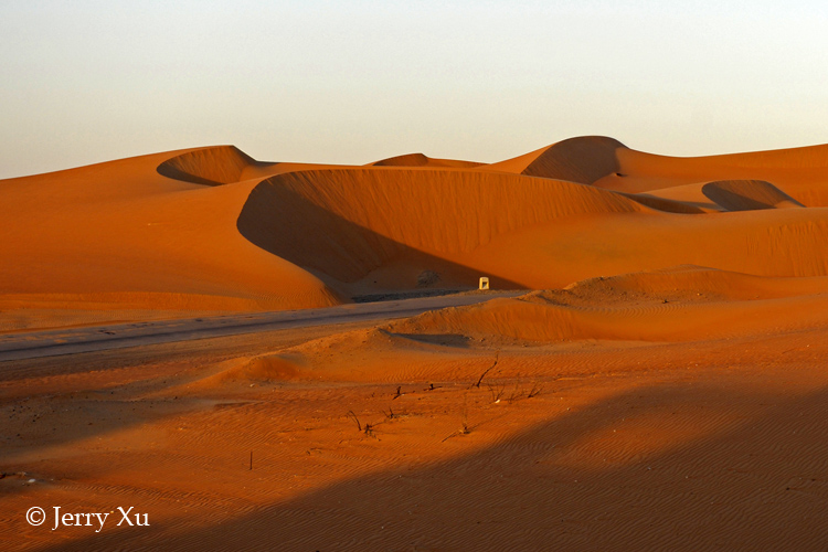
<path id="1" fill-rule="evenodd" d="M 439 445 L 452 459 L 401 458 L 217 524 L 132 528 L 41 550 L 825 550 L 828 392 L 779 400 L 734 389 L 643 386 L 558 408 L 456 456 L 473 429 Z M 378 431 L 376 446 L 401 429 Z M 253 476 L 216 477 L 250 485 Z"/>

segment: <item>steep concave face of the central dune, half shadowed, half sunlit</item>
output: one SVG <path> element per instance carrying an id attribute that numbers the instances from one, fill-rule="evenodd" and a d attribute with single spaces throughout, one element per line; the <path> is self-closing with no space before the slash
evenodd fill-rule
<path id="1" fill-rule="evenodd" d="M 242 210 L 238 230 L 291 263 L 353 282 L 412 251 L 456 262 L 458 254 L 521 227 L 646 209 L 612 192 L 517 176 L 302 171 L 258 184 Z"/>

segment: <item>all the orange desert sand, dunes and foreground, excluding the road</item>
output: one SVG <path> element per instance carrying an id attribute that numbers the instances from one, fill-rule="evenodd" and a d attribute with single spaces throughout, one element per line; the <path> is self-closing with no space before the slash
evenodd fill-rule
<path id="1" fill-rule="evenodd" d="M 828 549 L 828 146 L 226 146 L 0 200 L 7 333 L 524 290 L 0 362 L 2 550 Z"/>

